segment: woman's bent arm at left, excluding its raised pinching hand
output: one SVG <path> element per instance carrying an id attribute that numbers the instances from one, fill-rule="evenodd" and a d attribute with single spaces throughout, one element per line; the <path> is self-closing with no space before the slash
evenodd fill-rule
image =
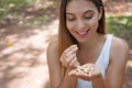
<path id="1" fill-rule="evenodd" d="M 65 77 L 62 78 L 62 70 L 59 66 L 59 59 L 57 54 L 57 44 L 52 42 L 47 47 L 47 65 L 50 72 L 50 80 L 52 88 L 76 88 L 76 77 L 69 77 L 66 70 Z"/>

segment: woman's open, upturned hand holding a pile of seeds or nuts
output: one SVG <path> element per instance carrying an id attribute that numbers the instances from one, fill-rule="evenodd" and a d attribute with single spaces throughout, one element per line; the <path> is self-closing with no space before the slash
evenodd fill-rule
<path id="1" fill-rule="evenodd" d="M 76 69 L 70 70 L 68 75 L 92 81 L 101 75 L 101 72 L 95 64 L 85 64 L 82 66 L 78 66 Z"/>

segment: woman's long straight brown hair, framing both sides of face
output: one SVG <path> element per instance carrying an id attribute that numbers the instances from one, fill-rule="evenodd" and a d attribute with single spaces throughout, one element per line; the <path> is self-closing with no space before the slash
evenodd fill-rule
<path id="1" fill-rule="evenodd" d="M 68 2 L 72 0 L 61 0 L 61 7 L 59 7 L 59 26 L 58 26 L 58 56 L 61 57 L 64 50 L 66 50 L 68 46 L 73 44 L 77 44 L 77 41 L 73 35 L 68 32 L 66 26 L 66 7 Z M 105 18 L 105 8 L 101 0 L 88 0 L 95 3 L 97 10 L 100 12 L 102 11 L 102 16 L 99 20 L 99 26 L 97 32 L 100 34 L 106 34 L 105 28 L 106 28 L 106 18 Z M 101 10 L 102 9 L 102 10 Z M 62 67 L 62 66 L 61 66 Z M 65 68 L 62 67 L 63 76 L 65 73 Z"/>

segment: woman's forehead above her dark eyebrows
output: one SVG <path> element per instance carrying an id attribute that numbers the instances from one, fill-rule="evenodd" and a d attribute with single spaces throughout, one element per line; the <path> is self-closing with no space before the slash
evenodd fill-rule
<path id="1" fill-rule="evenodd" d="M 78 12 L 86 10 L 96 10 L 96 6 L 90 0 L 72 0 L 66 7 L 66 12 Z"/>

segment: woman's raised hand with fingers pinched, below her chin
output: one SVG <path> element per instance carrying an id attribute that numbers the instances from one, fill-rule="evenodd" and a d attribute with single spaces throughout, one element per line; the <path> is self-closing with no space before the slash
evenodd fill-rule
<path id="1" fill-rule="evenodd" d="M 77 51 L 78 51 L 77 45 L 72 45 L 63 52 L 61 56 L 61 62 L 65 67 L 73 69 L 79 66 L 76 56 Z"/>

